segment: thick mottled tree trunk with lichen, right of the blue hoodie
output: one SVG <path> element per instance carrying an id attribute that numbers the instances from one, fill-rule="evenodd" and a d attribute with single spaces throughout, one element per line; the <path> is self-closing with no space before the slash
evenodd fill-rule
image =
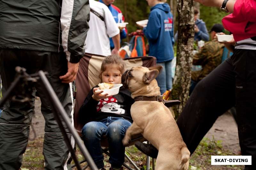
<path id="1" fill-rule="evenodd" d="M 173 107 L 175 117 L 188 100 L 191 81 L 191 64 L 194 42 L 194 7 L 193 0 L 177 0 L 178 12 L 178 43 L 176 57 L 176 72 L 172 87 L 172 99 L 180 100 L 179 106 Z"/>

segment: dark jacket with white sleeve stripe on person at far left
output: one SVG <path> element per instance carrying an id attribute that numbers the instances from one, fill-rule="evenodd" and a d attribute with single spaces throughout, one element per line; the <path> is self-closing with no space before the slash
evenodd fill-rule
<path id="1" fill-rule="evenodd" d="M 64 48 L 68 61 L 78 63 L 89 19 L 89 0 L 0 0 L 0 48 Z"/>

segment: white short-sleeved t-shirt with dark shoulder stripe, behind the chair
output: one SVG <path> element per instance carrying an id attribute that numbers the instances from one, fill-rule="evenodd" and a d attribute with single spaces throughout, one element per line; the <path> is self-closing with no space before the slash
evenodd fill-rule
<path id="1" fill-rule="evenodd" d="M 89 3 L 90 7 L 98 12 L 105 22 L 90 12 L 90 29 L 85 40 L 85 52 L 105 56 L 111 55 L 109 38 L 119 34 L 119 28 L 105 4 L 94 0 L 89 0 Z"/>

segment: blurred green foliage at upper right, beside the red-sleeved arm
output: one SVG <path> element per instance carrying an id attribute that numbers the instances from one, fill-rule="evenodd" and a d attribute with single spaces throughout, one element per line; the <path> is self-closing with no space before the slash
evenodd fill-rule
<path id="1" fill-rule="evenodd" d="M 220 11 L 220 8 L 200 5 L 200 19 L 203 19 L 208 31 L 214 24 L 222 24 L 221 20 L 226 15 L 227 13 Z"/>

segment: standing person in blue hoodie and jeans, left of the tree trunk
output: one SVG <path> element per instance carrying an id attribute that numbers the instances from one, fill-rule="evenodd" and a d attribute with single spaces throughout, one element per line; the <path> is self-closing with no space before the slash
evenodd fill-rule
<path id="1" fill-rule="evenodd" d="M 166 0 L 147 1 L 151 9 L 148 25 L 143 28 L 143 33 L 149 43 L 148 55 L 155 56 L 156 63 L 163 66 L 156 78 L 160 92 L 163 94 L 166 90 L 172 89 L 173 17 L 170 6 L 164 3 Z"/>

